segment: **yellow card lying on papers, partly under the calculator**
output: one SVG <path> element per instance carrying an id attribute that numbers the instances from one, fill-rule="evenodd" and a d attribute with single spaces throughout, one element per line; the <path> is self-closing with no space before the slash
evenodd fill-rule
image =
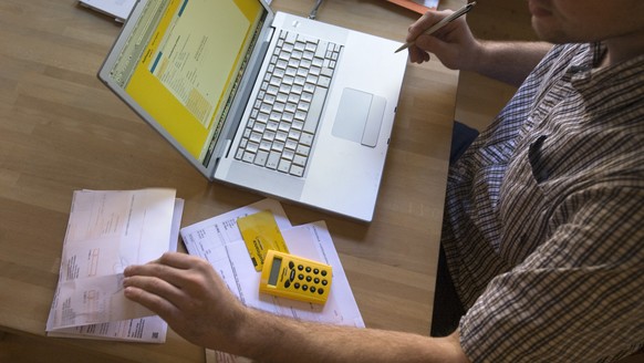
<path id="1" fill-rule="evenodd" d="M 237 219 L 237 226 L 257 271 L 261 271 L 268 250 L 289 253 L 276 217 L 270 210 L 241 217 Z"/>

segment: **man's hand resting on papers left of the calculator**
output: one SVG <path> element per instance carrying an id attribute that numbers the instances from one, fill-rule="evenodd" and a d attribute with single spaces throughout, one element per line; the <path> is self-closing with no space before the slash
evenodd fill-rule
<path id="1" fill-rule="evenodd" d="M 160 315 L 179 335 L 201 346 L 232 344 L 246 308 L 201 259 L 165 253 L 125 269 L 125 297 Z"/>

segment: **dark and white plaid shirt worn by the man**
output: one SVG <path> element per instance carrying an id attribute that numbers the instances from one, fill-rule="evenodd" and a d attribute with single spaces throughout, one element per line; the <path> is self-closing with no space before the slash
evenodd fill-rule
<path id="1" fill-rule="evenodd" d="M 557 45 L 451 167 L 443 230 L 472 362 L 644 344 L 644 55 Z"/>

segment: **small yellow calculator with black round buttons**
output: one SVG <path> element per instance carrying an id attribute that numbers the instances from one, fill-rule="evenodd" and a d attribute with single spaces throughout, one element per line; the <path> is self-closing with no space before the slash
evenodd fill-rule
<path id="1" fill-rule="evenodd" d="M 261 270 L 259 291 L 324 304 L 331 291 L 331 266 L 269 250 Z"/>

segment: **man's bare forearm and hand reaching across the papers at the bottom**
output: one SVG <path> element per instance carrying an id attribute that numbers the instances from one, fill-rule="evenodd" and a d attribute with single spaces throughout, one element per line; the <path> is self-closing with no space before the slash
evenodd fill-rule
<path id="1" fill-rule="evenodd" d="M 468 362 L 458 333 L 411 333 L 295 321 L 243 307 L 208 261 L 165 253 L 125 270 L 125 295 L 188 341 L 266 362 Z"/>

